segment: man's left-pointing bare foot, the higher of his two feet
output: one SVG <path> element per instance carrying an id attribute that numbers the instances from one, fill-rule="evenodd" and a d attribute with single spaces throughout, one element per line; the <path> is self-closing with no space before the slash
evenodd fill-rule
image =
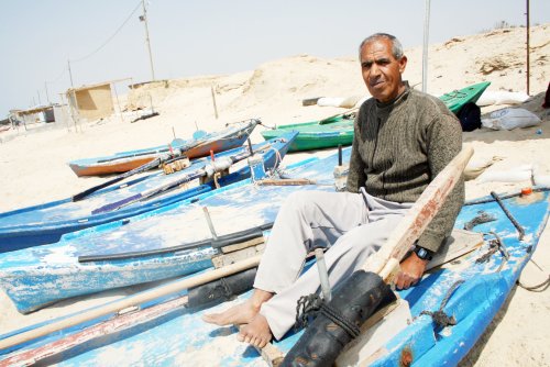
<path id="1" fill-rule="evenodd" d="M 220 313 L 205 314 L 202 315 L 202 320 L 219 326 L 248 324 L 260 312 L 262 304 L 272 297 L 273 293 L 261 289 L 254 289 L 254 293 L 252 293 L 249 300 Z"/>

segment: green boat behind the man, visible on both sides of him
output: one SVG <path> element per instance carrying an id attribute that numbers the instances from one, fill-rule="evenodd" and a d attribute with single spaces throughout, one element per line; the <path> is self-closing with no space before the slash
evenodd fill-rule
<path id="1" fill-rule="evenodd" d="M 453 90 L 439 97 L 449 110 L 458 113 L 468 102 L 476 102 L 491 85 L 490 81 L 479 82 L 459 90 Z M 301 152 L 351 145 L 353 142 L 353 120 L 355 113 L 343 113 L 320 121 L 310 121 L 277 126 L 275 130 L 261 132 L 264 140 L 278 137 L 290 130 L 298 131 L 298 136 L 290 145 L 289 152 Z"/>

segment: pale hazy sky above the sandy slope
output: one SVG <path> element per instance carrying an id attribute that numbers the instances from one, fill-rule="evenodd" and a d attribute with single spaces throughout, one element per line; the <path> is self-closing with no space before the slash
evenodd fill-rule
<path id="1" fill-rule="evenodd" d="M 550 23 L 550 1 L 529 3 L 531 25 Z M 375 32 L 396 35 L 405 48 L 424 42 L 426 0 L 145 4 L 155 79 L 253 70 L 300 54 L 353 56 Z M 520 0 L 431 0 L 429 42 L 476 34 L 503 21 L 524 26 L 525 13 Z M 0 0 L 0 119 L 11 109 L 61 102 L 59 93 L 72 86 L 152 80 L 142 14 L 141 0 Z M 117 84 L 118 92 L 125 93 L 128 84 Z"/>

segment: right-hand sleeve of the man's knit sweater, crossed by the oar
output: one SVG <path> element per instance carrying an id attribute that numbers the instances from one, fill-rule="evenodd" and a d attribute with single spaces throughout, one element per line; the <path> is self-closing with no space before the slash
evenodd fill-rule
<path id="1" fill-rule="evenodd" d="M 442 114 L 429 125 L 427 137 L 428 163 L 433 179 L 462 149 L 462 129 L 454 116 Z M 463 203 L 464 178 L 461 177 L 441 210 L 418 238 L 418 245 L 437 252 L 443 240 L 451 234 Z"/>

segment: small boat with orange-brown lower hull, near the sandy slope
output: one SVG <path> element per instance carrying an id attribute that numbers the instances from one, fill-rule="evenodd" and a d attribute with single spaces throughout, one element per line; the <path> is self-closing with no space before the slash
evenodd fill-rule
<path id="1" fill-rule="evenodd" d="M 99 176 L 121 174 L 143 166 L 160 155 L 167 153 L 185 155 L 189 159 L 205 157 L 241 146 L 252 133 L 258 120 L 242 121 L 228 124 L 226 129 L 191 140 L 176 138 L 170 144 L 151 148 L 116 153 L 110 156 L 84 158 L 68 163 L 77 176 Z"/>

